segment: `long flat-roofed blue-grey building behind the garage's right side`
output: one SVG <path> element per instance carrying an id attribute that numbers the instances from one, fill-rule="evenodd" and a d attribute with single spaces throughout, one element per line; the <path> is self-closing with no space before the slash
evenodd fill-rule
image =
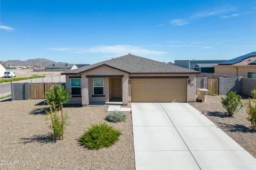
<path id="1" fill-rule="evenodd" d="M 196 64 L 218 64 L 226 60 L 174 60 L 176 66 L 194 70 Z M 214 72 L 214 71 L 213 71 Z"/>

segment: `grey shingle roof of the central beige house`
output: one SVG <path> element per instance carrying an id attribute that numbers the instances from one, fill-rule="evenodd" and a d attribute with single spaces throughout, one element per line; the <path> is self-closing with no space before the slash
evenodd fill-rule
<path id="1" fill-rule="evenodd" d="M 100 66 L 108 66 L 115 68 L 129 74 L 134 73 L 199 73 L 195 70 L 189 70 L 187 68 L 175 66 L 169 63 L 163 63 L 155 60 L 142 58 L 132 54 L 120 56 L 115 59 L 102 61 L 99 63 L 91 64 L 90 66 L 81 67 L 75 70 L 62 72 L 62 74 L 81 74 L 84 71 L 91 70 Z"/>

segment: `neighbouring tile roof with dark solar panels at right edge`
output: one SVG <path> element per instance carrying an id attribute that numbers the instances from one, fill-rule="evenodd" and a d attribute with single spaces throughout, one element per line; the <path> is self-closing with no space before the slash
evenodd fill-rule
<path id="1" fill-rule="evenodd" d="M 242 56 L 238 56 L 237 58 L 221 62 L 218 65 L 249 66 L 250 62 L 247 62 L 247 61 L 251 59 L 254 61 L 255 56 L 256 56 L 256 52 L 251 52 Z"/>

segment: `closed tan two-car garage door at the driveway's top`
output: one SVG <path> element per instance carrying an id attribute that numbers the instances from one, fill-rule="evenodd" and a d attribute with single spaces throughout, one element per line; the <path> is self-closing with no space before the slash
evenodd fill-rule
<path id="1" fill-rule="evenodd" d="M 186 78 L 134 78 L 132 102 L 187 102 Z"/>

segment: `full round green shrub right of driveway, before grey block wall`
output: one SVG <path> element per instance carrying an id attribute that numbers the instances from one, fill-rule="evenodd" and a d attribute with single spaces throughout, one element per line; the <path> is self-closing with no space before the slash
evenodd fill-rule
<path id="1" fill-rule="evenodd" d="M 243 104 L 241 102 L 242 98 L 236 92 L 229 92 L 226 95 L 226 98 L 221 98 L 222 106 L 227 110 L 229 116 L 233 116 L 238 112 Z"/>

